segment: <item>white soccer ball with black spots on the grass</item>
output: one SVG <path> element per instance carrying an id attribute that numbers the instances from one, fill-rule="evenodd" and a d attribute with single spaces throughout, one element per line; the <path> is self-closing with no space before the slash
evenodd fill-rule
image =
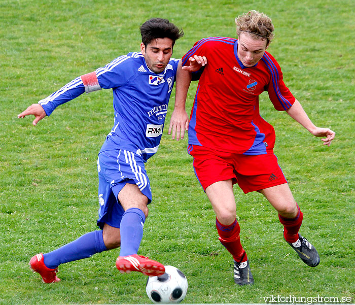
<path id="1" fill-rule="evenodd" d="M 149 277 L 146 291 L 154 303 L 180 303 L 187 293 L 186 276 L 173 266 L 165 266 L 165 273 Z"/>

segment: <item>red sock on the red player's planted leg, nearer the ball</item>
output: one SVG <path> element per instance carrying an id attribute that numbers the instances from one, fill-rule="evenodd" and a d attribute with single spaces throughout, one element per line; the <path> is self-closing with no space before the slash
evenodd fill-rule
<path id="1" fill-rule="evenodd" d="M 240 226 L 237 220 L 230 225 L 224 225 L 216 218 L 216 227 L 221 244 L 232 254 L 234 260 L 237 262 L 246 261 L 247 256 L 240 243 Z"/>

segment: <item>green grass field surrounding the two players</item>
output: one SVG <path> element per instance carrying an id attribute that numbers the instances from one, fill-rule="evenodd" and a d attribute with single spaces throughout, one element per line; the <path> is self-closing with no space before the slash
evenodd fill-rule
<path id="1" fill-rule="evenodd" d="M 234 285 L 231 257 L 217 240 L 187 139 L 172 141 L 167 128 L 147 163 L 153 204 L 139 253 L 186 274 L 185 303 L 265 303 L 270 295 L 355 302 L 353 0 L 1 0 L 0 304 L 149 303 L 146 277 L 117 271 L 119 250 L 61 265 L 62 281 L 52 285 L 28 268 L 32 255 L 96 229 L 96 157 L 113 124 L 112 92 L 84 94 L 35 127 L 17 114 L 75 77 L 138 51 L 138 27 L 151 17 L 183 27 L 173 54 L 180 58 L 200 38 L 235 37 L 234 18 L 250 9 L 272 18 L 276 37 L 269 51 L 309 117 L 337 133 L 324 147 L 275 111 L 267 94 L 260 98 L 261 114 L 276 130 L 275 154 L 305 215 L 301 232 L 321 264 L 303 264 L 283 241 L 266 199 L 235 186 L 255 285 Z M 188 111 L 195 89 L 196 83 Z M 167 125 L 172 107 L 173 96 Z"/>

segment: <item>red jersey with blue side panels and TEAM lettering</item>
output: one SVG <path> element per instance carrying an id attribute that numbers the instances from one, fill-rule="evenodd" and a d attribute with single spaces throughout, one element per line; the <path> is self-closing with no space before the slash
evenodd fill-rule
<path id="1" fill-rule="evenodd" d="M 189 124 L 189 144 L 240 154 L 273 153 L 274 128 L 259 114 L 259 95 L 267 91 L 276 110 L 289 109 L 295 97 L 282 80 L 277 61 L 265 52 L 252 67 L 237 56 L 238 40 L 210 37 L 182 58 L 206 56 Z"/>

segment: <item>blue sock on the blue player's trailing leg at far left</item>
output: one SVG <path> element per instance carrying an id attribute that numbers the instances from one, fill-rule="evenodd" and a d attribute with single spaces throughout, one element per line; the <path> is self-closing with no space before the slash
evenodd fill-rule
<path id="1" fill-rule="evenodd" d="M 106 251 L 102 230 L 93 231 L 80 236 L 77 240 L 43 255 L 48 268 L 56 268 L 60 264 L 78 259 L 88 258 L 95 253 Z"/>

